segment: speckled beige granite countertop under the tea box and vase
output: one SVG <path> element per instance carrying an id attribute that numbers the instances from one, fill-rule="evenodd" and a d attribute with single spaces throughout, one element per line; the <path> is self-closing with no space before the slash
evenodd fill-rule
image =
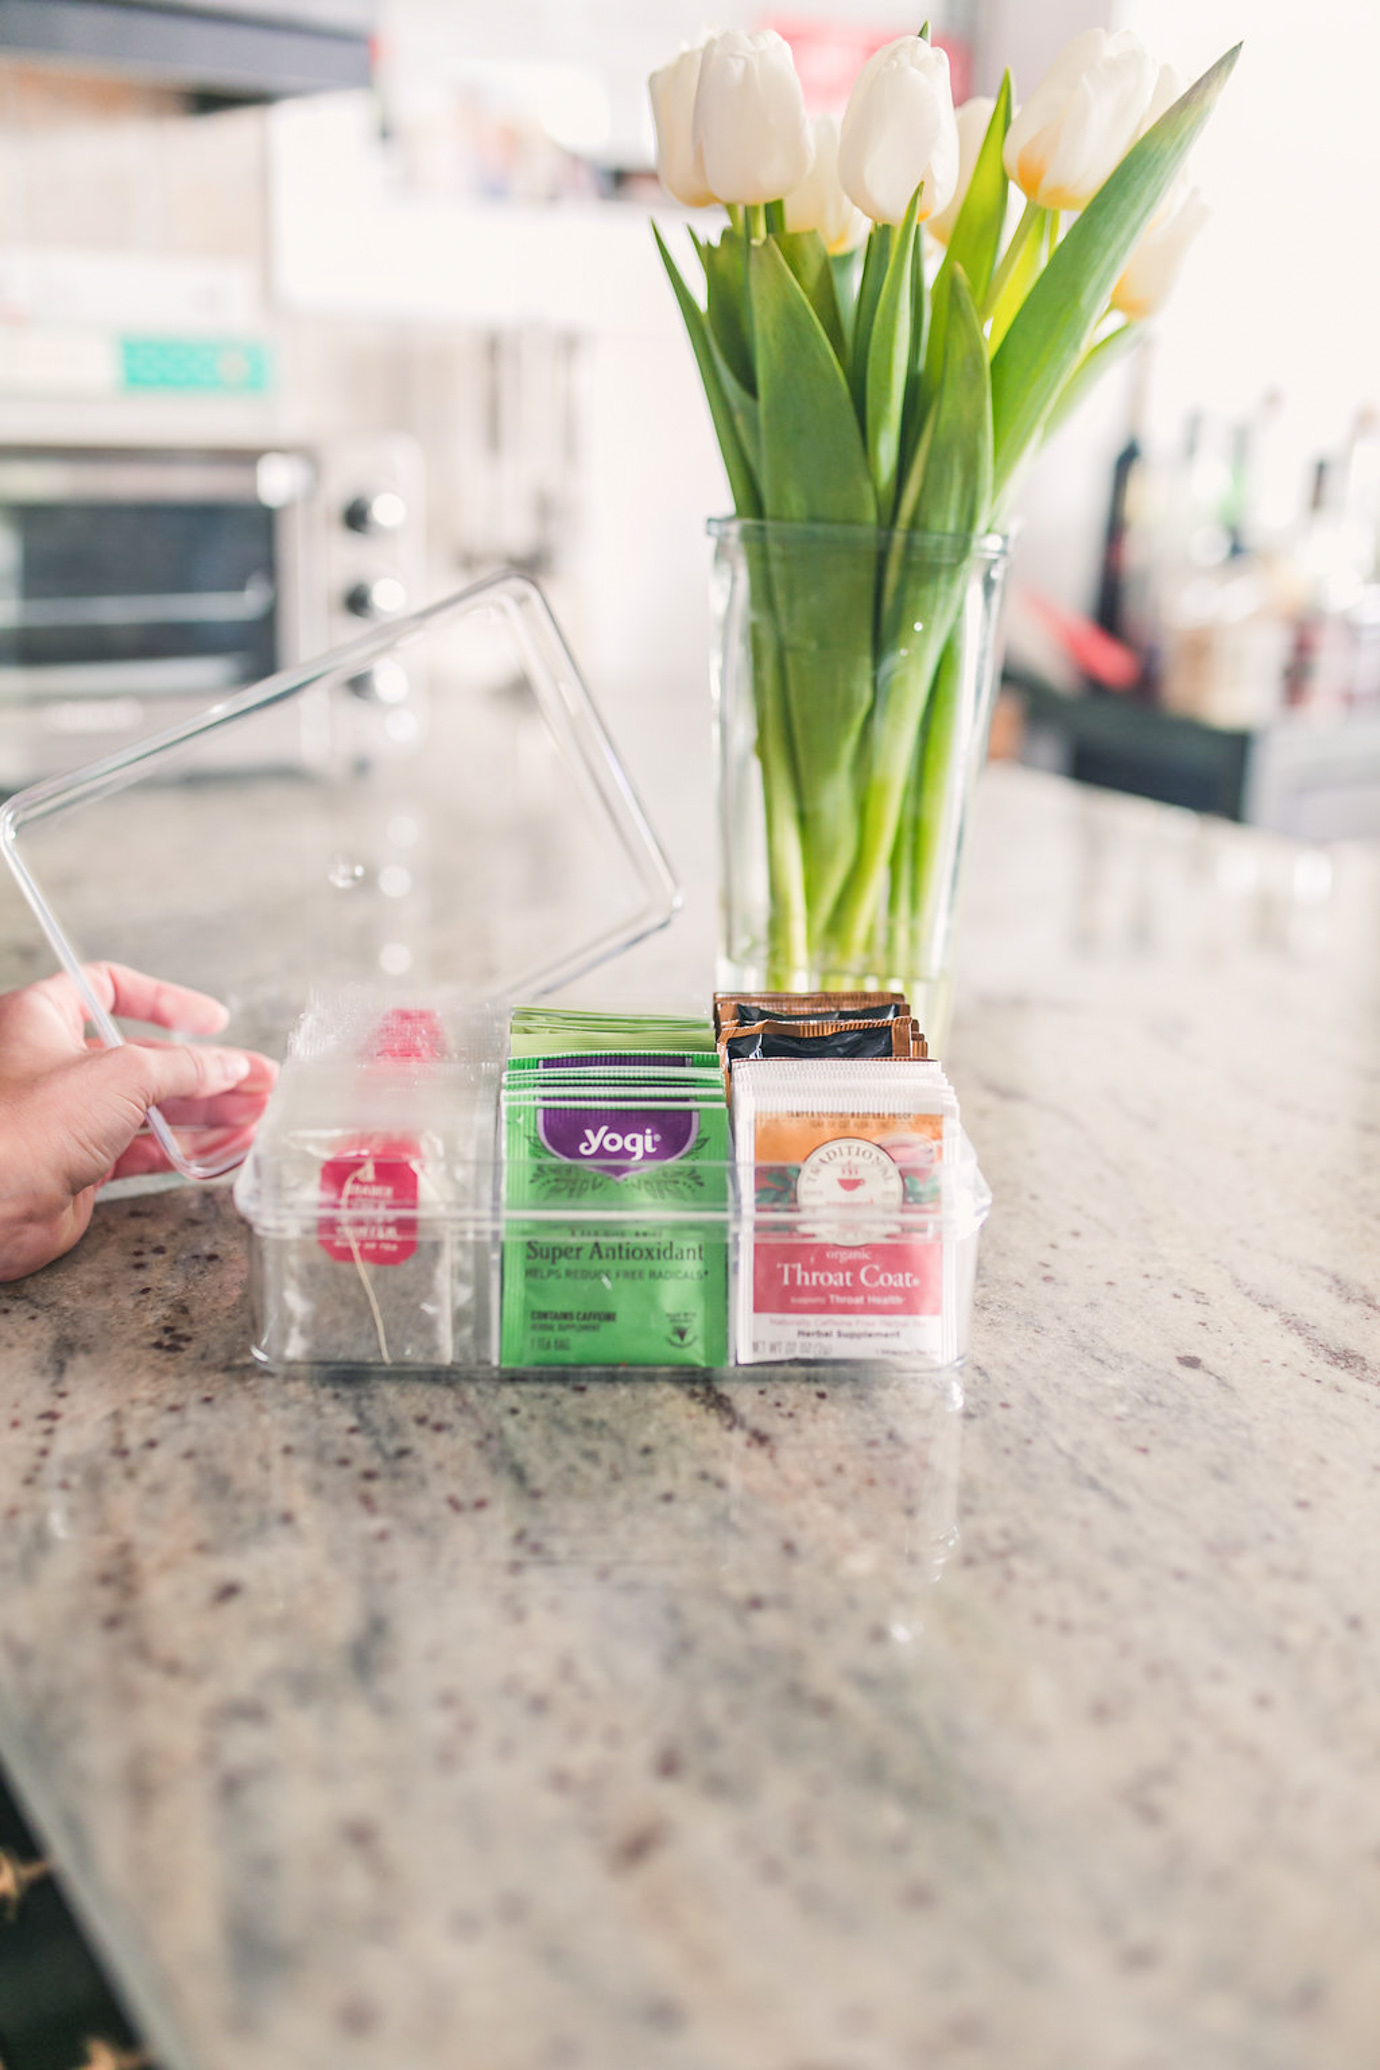
<path id="1" fill-rule="evenodd" d="M 943 1381 L 0 1290 L 0 1757 L 166 2070 L 1370 2070 L 1380 857 L 989 774 Z M 962 1445 L 960 1445 L 962 1441 Z"/>

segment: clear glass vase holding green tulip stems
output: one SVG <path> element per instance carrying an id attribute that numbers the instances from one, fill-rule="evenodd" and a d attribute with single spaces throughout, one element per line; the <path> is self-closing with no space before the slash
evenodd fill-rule
<path id="1" fill-rule="evenodd" d="M 720 985 L 898 989 L 937 1052 L 1008 542 L 710 532 Z"/>

